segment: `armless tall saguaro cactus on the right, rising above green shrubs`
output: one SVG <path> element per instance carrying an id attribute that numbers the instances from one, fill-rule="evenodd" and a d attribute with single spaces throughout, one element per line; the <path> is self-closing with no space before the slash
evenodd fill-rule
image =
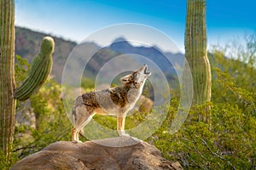
<path id="1" fill-rule="evenodd" d="M 193 77 L 194 105 L 204 105 L 211 100 L 212 88 L 207 58 L 206 0 L 187 0 L 185 56 Z"/>

